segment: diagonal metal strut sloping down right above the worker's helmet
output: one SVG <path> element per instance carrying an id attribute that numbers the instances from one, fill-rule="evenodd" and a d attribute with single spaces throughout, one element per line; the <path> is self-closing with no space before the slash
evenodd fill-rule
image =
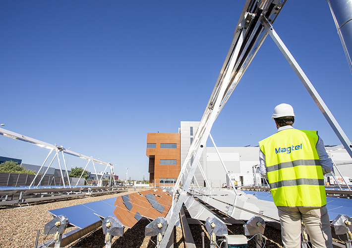
<path id="1" fill-rule="evenodd" d="M 274 40 L 275 44 L 279 47 L 280 51 L 283 53 L 287 61 L 292 66 L 294 72 L 297 74 L 299 79 L 302 81 L 304 87 L 309 92 L 310 96 L 313 98 L 314 102 L 320 109 L 321 113 L 323 113 L 325 119 L 328 121 L 330 126 L 333 128 L 334 132 L 340 139 L 341 143 L 344 145 L 346 151 L 350 154 L 352 158 L 352 144 L 349 138 L 346 136 L 344 130 L 342 130 L 341 126 L 338 124 L 333 114 L 330 112 L 323 99 L 320 97 L 318 92 L 315 90 L 312 83 L 309 81 L 308 77 L 304 74 L 303 70 L 299 66 L 299 64 L 295 61 L 290 51 L 285 46 L 284 42 L 280 39 L 279 35 L 275 32 L 273 26 L 270 22 L 265 18 L 265 16 L 260 17 L 260 22 L 264 26 L 265 30 L 269 33 L 271 38 Z"/>

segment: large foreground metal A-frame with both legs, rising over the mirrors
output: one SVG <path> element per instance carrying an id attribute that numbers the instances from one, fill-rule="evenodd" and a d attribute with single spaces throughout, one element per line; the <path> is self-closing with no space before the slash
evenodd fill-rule
<path id="1" fill-rule="evenodd" d="M 285 3 L 285 2 L 284 2 Z M 213 93 L 210 97 L 208 102 L 208 108 L 205 110 L 202 120 L 197 128 L 197 131 L 194 135 L 193 142 L 188 150 L 187 156 L 185 161 L 182 165 L 181 173 L 184 173 L 184 167 L 189 163 L 189 160 L 196 151 L 196 156 L 194 161 L 191 165 L 191 169 L 188 173 L 187 179 L 180 190 L 180 194 L 178 200 L 176 202 L 175 208 L 173 208 L 173 212 L 171 215 L 170 223 L 168 229 L 165 233 L 166 239 L 170 238 L 171 231 L 173 226 L 176 223 L 176 215 L 178 214 L 186 196 L 187 191 L 190 186 L 192 177 L 196 170 L 196 165 L 199 162 L 200 156 L 203 152 L 203 148 L 205 147 L 206 140 L 209 137 L 210 130 L 214 121 L 216 120 L 217 116 L 220 114 L 222 108 L 224 107 L 225 103 L 227 102 L 228 98 L 232 94 L 233 90 L 235 89 L 238 81 L 240 80 L 241 76 L 245 72 L 246 68 L 254 58 L 255 54 L 259 50 L 260 46 L 263 44 L 265 38 L 269 34 L 274 42 L 277 44 L 281 52 L 284 54 L 286 59 L 289 61 L 293 70 L 296 72 L 300 80 L 302 81 L 305 88 L 308 90 L 309 94 L 313 98 L 314 102 L 319 107 L 320 111 L 323 113 L 324 117 L 331 125 L 333 130 L 335 131 L 336 135 L 339 137 L 340 141 L 343 143 L 344 147 L 352 157 L 352 145 L 340 125 L 337 123 L 317 91 L 314 89 L 313 85 L 310 83 L 309 79 L 306 77 L 302 69 L 299 67 L 298 63 L 294 60 L 293 56 L 286 48 L 285 44 L 281 41 L 280 37 L 274 31 L 271 23 L 268 19 L 263 15 L 268 8 L 261 8 L 257 6 L 260 10 L 258 12 L 259 15 L 251 14 L 246 11 L 248 7 L 249 1 L 246 2 L 245 8 L 242 11 L 243 19 L 240 20 L 238 23 L 239 25 L 235 31 L 235 38 L 228 53 L 228 56 L 224 62 L 222 67 L 222 71 L 219 75 L 218 81 L 214 87 Z M 276 8 L 279 12 L 282 6 L 278 6 Z M 273 13 L 274 15 L 278 14 L 279 12 Z M 271 16 L 272 13 L 265 13 L 266 16 Z M 274 18 L 270 17 L 271 22 L 275 20 Z M 250 26 L 246 26 L 249 23 Z M 262 30 L 262 27 L 265 28 L 266 32 Z M 246 33 L 246 29 L 250 29 L 250 32 Z M 244 41 L 245 40 L 245 41 Z M 234 47 L 233 47 L 234 46 Z M 176 186 L 178 186 L 180 177 L 177 178 Z M 176 194 L 176 186 L 174 188 L 173 196 L 175 197 Z M 164 239 L 164 240 L 166 240 Z M 166 242 L 161 243 L 161 248 L 166 248 Z"/>

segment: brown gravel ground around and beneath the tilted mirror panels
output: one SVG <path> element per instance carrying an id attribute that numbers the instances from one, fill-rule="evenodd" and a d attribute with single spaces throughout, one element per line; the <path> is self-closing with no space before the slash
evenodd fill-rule
<path id="1" fill-rule="evenodd" d="M 145 189 L 137 189 L 138 191 Z M 37 230 L 40 229 L 39 245 L 43 244 L 44 226 L 53 218 L 47 211 L 67 206 L 78 205 L 82 203 L 117 197 L 119 195 L 132 193 L 121 192 L 117 194 L 108 194 L 89 198 L 76 198 L 67 200 L 46 201 L 41 203 L 31 203 L 29 207 L 2 206 L 0 207 L 0 248 L 33 248 L 36 240 Z M 145 237 L 145 226 L 150 222 L 141 219 L 133 228 L 125 228 L 122 237 L 114 237 L 112 247 L 114 248 L 155 248 L 156 237 Z M 66 232 L 74 228 L 67 228 Z M 209 247 L 209 236 L 204 225 L 190 225 L 190 229 L 197 248 L 202 247 L 201 233 L 205 232 L 205 247 Z M 229 234 L 244 234 L 242 225 L 228 226 Z M 264 235 L 268 238 L 267 248 L 282 248 L 280 231 L 266 227 Z M 46 242 L 53 239 L 54 235 L 46 238 Z M 174 248 L 186 248 L 183 240 L 182 229 L 175 227 L 174 239 L 176 243 Z M 219 243 L 220 244 L 220 243 Z M 102 228 L 87 234 L 76 242 L 67 247 L 89 247 L 104 248 L 104 234 Z M 223 246 L 222 246 L 223 247 Z M 248 242 L 248 248 L 255 248 L 253 241 Z"/>

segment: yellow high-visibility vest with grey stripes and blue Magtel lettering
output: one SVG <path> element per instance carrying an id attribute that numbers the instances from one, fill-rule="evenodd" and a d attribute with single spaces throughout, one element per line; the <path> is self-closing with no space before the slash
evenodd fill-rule
<path id="1" fill-rule="evenodd" d="M 315 148 L 318 138 L 317 131 L 292 128 L 259 142 L 275 205 L 326 205 L 323 169 Z"/>

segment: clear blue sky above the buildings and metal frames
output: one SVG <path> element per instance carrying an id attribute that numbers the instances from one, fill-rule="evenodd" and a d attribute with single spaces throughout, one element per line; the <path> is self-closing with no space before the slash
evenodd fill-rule
<path id="1" fill-rule="evenodd" d="M 0 1 L 0 123 L 147 179 L 147 132 L 200 121 L 244 3 Z M 351 139 L 352 75 L 328 2 L 288 0 L 274 28 Z M 276 131 L 280 103 L 296 128 L 340 144 L 268 37 L 213 126 L 217 146 L 257 145 Z M 0 156 L 41 165 L 47 153 L 0 137 Z"/>

